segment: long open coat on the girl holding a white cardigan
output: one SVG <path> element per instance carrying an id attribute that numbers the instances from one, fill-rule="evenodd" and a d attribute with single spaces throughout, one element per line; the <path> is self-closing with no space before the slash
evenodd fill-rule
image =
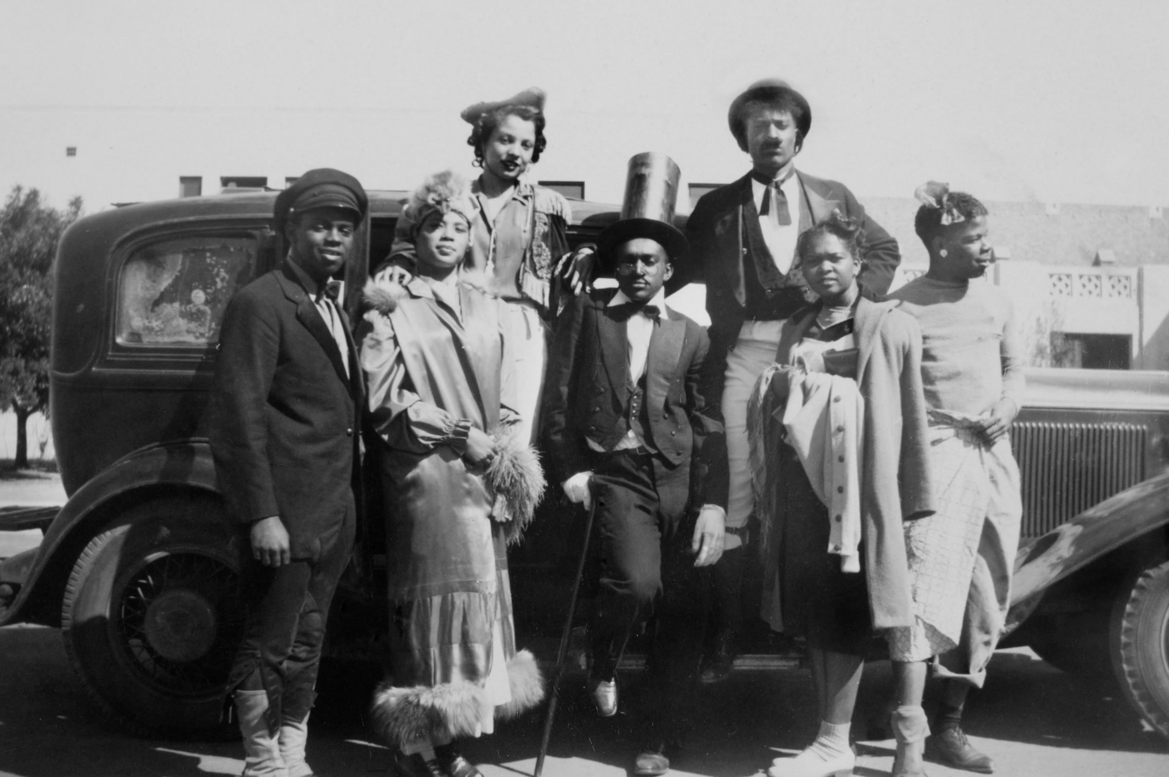
<path id="1" fill-rule="evenodd" d="M 929 436 L 921 391 L 921 331 L 916 319 L 897 310 L 899 305 L 892 300 L 872 303 L 860 298 L 853 331 L 857 383 L 865 400 L 860 551 L 874 629 L 913 624 L 902 522 L 934 513 Z M 787 320 L 776 362 L 794 363 L 795 348 L 815 322 L 818 311 L 818 304 L 811 305 Z M 782 418 L 783 408 L 777 412 Z M 782 421 L 765 421 L 782 426 Z M 769 435 L 768 439 L 776 440 L 779 435 Z M 775 485 L 783 487 L 783 484 Z M 777 501 L 782 504 L 783 500 Z M 769 520 L 782 521 L 784 516 L 773 515 Z M 782 533 L 775 529 L 772 526 L 768 534 L 781 536 Z M 777 557 L 774 547 L 767 551 L 767 566 L 773 575 Z M 765 582 L 763 590 L 774 590 L 770 580 Z"/>

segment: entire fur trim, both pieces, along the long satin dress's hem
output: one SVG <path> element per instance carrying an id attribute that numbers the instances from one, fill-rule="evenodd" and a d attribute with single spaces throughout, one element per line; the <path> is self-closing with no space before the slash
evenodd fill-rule
<path id="1" fill-rule="evenodd" d="M 511 720 L 544 701 L 544 678 L 528 651 L 519 651 L 507 661 L 507 682 L 512 699 L 494 708 L 496 717 Z M 374 694 L 369 712 L 381 740 L 402 748 L 436 735 L 478 736 L 480 713 L 489 708 L 483 688 L 459 680 L 407 688 L 385 684 Z"/>

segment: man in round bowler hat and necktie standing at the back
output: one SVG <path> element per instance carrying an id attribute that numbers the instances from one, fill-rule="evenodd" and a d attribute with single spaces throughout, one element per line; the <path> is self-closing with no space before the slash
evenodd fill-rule
<path id="1" fill-rule="evenodd" d="M 704 195 L 687 222 L 693 269 L 706 280 L 706 311 L 711 317 L 711 359 L 719 383 L 728 456 L 726 555 L 717 570 L 729 601 L 715 608 L 736 612 L 735 581 L 741 581 L 747 519 L 754 509 L 747 442 L 747 398 L 762 370 L 775 361 L 780 328 L 800 307 L 815 299 L 795 261 L 800 234 L 833 210 L 858 220 L 867 252 L 860 273 L 862 293 L 884 294 L 900 262 L 897 241 L 865 215 L 852 193 L 836 181 L 795 168 L 811 129 L 811 106 L 786 82 L 752 84 L 731 103 L 731 134 L 750 157 L 750 172 L 733 183 Z M 725 381 L 725 382 L 724 382 Z M 732 619 L 733 620 L 733 619 Z M 732 650 L 736 626 L 720 624 L 715 651 Z M 717 657 L 725 673 L 732 655 Z M 711 671 L 717 679 L 719 670 Z M 704 680 L 707 679 L 704 671 Z"/>

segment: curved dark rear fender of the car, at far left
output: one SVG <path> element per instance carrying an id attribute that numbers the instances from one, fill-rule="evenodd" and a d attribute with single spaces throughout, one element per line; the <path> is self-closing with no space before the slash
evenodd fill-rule
<path id="1" fill-rule="evenodd" d="M 136 494 L 145 498 L 148 493 L 173 493 L 175 487 L 220 493 L 206 439 L 140 448 L 85 483 L 72 493 L 46 532 L 15 599 L 7 609 L 0 609 L 0 626 L 22 620 L 55 625 L 51 618 L 60 602 L 46 601 L 46 597 L 63 590 L 75 561 L 67 556 L 79 553 L 78 542 L 88 541 L 98 530 L 90 526 L 91 519 L 105 514 L 106 508 L 118 502 L 132 501 Z M 81 546 L 84 547 L 84 542 Z"/>

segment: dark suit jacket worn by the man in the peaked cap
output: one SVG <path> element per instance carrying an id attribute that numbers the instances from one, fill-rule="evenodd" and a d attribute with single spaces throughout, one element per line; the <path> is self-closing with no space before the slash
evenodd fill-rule
<path id="1" fill-rule="evenodd" d="M 288 263 L 223 317 L 209 424 L 220 485 L 237 521 L 279 515 L 295 559 L 316 559 L 357 511 L 361 368 L 341 321 L 344 355 Z"/>

